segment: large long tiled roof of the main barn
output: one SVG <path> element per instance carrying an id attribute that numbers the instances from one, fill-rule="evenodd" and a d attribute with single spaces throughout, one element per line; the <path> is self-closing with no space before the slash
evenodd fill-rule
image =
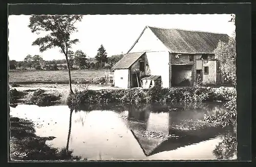
<path id="1" fill-rule="evenodd" d="M 214 53 L 219 40 L 227 42 L 229 39 L 226 34 L 147 27 L 170 52 L 190 54 Z"/>

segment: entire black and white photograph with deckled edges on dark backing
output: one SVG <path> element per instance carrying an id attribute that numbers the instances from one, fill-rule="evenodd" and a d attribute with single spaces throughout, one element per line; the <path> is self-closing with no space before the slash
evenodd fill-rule
<path id="1" fill-rule="evenodd" d="M 9 15 L 11 161 L 237 160 L 236 14 Z"/>

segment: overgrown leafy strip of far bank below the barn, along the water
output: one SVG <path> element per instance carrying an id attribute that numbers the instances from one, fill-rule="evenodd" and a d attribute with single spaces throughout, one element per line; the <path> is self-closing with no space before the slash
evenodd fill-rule
<path id="1" fill-rule="evenodd" d="M 225 87 L 205 88 L 153 88 L 120 90 L 85 90 L 69 96 L 70 107 L 93 103 L 201 103 L 210 101 L 229 101 L 236 98 L 236 90 Z"/>

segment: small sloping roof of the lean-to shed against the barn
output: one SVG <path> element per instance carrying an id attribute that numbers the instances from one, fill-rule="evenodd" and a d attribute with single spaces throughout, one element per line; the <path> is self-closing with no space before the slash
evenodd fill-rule
<path id="1" fill-rule="evenodd" d="M 136 62 L 145 52 L 127 53 L 119 60 L 112 69 L 127 69 Z"/>

